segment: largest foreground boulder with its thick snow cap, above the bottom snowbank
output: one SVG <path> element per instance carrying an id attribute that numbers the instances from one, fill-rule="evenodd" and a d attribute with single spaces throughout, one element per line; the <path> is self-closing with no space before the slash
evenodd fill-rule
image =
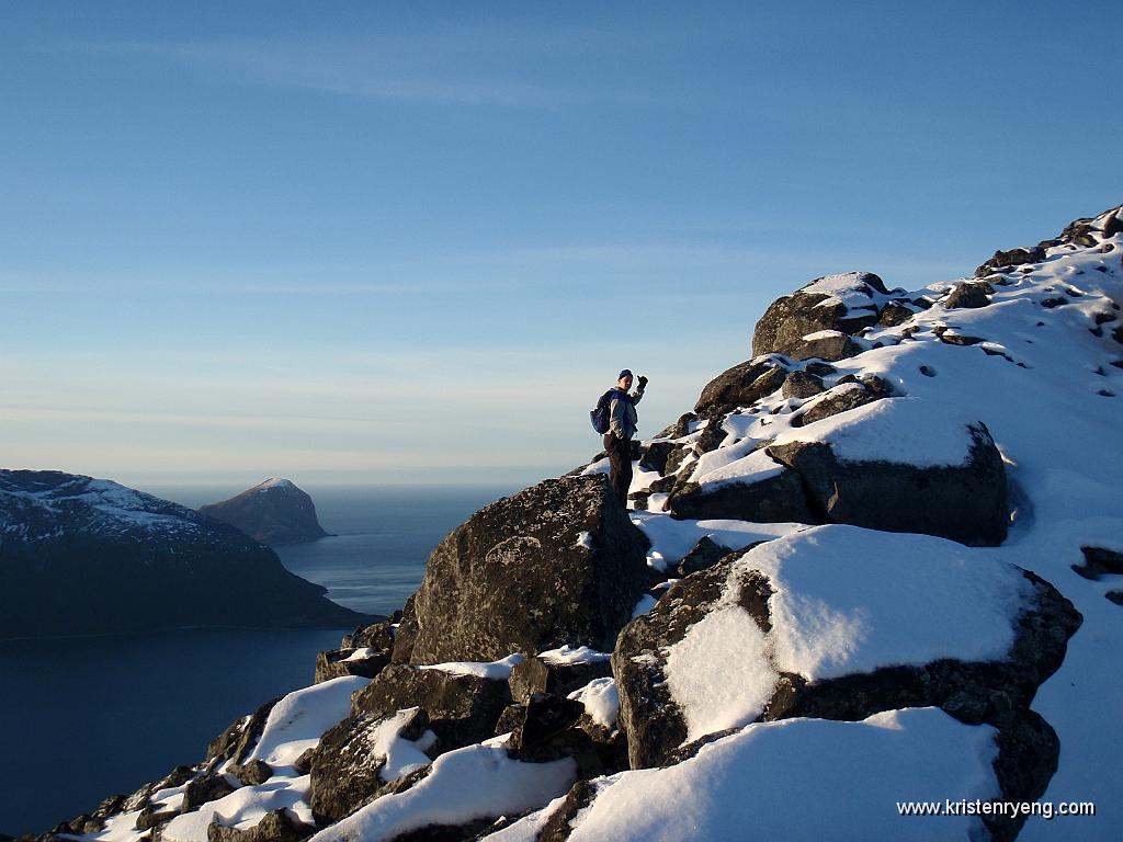
<path id="1" fill-rule="evenodd" d="M 793 716 L 935 706 L 1005 727 L 1079 624 L 1048 583 L 950 541 L 836 525 L 788 536 L 683 579 L 621 632 L 631 766 Z"/>

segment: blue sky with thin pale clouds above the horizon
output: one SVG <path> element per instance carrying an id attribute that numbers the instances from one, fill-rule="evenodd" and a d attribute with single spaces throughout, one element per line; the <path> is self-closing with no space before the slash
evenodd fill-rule
<path id="1" fill-rule="evenodd" d="M 533 482 L 1123 201 L 1117 3 L 4 3 L 4 467 Z"/>

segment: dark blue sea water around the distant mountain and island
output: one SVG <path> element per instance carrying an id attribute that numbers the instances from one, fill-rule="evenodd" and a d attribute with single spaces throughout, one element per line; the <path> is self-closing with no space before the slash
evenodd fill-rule
<path id="1" fill-rule="evenodd" d="M 195 507 L 237 488 L 144 488 Z M 314 488 L 332 533 L 277 548 L 349 608 L 390 614 L 450 530 L 511 487 Z M 0 642 L 0 833 L 44 832 L 202 760 L 222 729 L 312 681 L 345 630 L 183 630 Z"/>

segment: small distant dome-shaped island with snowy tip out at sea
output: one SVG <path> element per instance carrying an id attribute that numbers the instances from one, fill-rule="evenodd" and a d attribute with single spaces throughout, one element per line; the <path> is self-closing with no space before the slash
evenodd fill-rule
<path id="1" fill-rule="evenodd" d="M 199 513 L 229 523 L 255 541 L 277 547 L 327 537 L 312 498 L 287 479 L 271 477 L 236 497 L 199 507 Z"/>

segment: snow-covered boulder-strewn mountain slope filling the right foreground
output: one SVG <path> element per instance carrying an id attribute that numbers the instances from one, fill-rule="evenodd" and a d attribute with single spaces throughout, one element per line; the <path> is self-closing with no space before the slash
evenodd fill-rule
<path id="1" fill-rule="evenodd" d="M 755 356 L 642 442 L 650 589 L 611 661 L 576 620 L 645 550 L 596 458 L 454 531 L 423 600 L 327 653 L 339 677 L 60 830 L 1119 839 L 1121 231 L 1114 209 L 975 278 L 849 273 L 773 304 Z M 484 602 L 453 649 L 494 661 L 419 655 Z"/>

